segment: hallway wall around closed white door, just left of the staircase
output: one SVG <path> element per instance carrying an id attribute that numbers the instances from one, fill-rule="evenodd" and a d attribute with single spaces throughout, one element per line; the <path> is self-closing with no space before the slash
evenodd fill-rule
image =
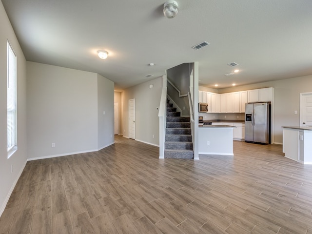
<path id="1" fill-rule="evenodd" d="M 153 84 L 153 88 L 149 86 Z M 136 140 L 159 145 L 158 110 L 162 90 L 162 78 L 133 86 L 122 93 L 123 135 L 128 133 L 128 100 L 136 99 Z M 154 135 L 154 138 L 153 138 Z"/>

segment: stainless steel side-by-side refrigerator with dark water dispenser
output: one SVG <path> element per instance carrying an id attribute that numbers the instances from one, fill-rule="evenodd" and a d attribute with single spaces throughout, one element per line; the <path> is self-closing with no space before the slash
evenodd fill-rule
<path id="1" fill-rule="evenodd" d="M 245 105 L 245 141 L 271 144 L 271 103 Z"/>

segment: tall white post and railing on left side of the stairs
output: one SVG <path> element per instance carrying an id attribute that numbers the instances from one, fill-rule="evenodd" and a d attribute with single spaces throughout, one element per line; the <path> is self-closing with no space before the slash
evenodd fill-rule
<path id="1" fill-rule="evenodd" d="M 167 122 L 167 87 L 163 87 L 161 91 L 159 103 L 159 158 L 165 158 L 165 137 Z"/>

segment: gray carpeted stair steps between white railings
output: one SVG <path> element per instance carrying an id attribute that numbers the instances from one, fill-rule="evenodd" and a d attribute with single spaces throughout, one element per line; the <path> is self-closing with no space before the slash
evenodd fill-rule
<path id="1" fill-rule="evenodd" d="M 190 117 L 180 117 L 181 113 L 167 99 L 167 126 L 165 158 L 193 159 L 193 143 Z"/>

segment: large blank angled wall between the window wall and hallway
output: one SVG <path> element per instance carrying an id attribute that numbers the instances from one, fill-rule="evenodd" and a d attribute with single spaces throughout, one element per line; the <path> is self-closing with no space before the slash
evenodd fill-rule
<path id="1" fill-rule="evenodd" d="M 101 149 L 114 142 L 113 123 L 112 81 L 96 73 L 27 62 L 28 158 Z"/>

